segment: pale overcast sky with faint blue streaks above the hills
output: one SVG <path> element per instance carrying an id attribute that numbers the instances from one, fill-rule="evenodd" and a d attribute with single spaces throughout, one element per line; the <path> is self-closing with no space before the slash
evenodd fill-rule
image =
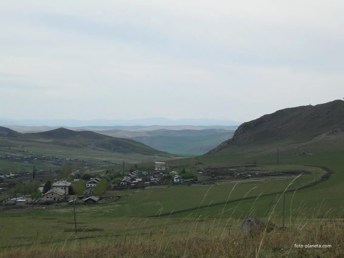
<path id="1" fill-rule="evenodd" d="M 0 117 L 248 121 L 344 97 L 344 4 L 2 1 Z"/>

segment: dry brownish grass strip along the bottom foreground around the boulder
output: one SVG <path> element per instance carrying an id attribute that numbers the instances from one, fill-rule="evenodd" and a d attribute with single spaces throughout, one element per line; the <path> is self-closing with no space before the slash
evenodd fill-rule
<path id="1" fill-rule="evenodd" d="M 344 257 L 344 223 L 335 219 L 294 224 L 290 229 L 243 236 L 228 229 L 216 235 L 186 237 L 159 234 L 128 234 L 123 238 L 106 237 L 66 240 L 50 245 L 2 248 L 1 258 L 31 257 Z M 295 248 L 295 244 L 331 245 L 330 248 Z"/>

